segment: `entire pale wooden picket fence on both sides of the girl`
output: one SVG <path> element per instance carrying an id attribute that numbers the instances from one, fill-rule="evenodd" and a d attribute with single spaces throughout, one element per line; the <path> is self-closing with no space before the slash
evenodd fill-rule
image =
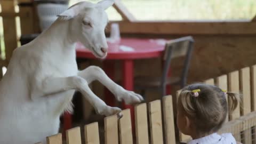
<path id="1" fill-rule="evenodd" d="M 241 93 L 241 103 L 233 114 L 227 116 L 226 123 L 219 133 L 231 132 L 237 141 L 244 144 L 255 143 L 256 134 L 256 65 L 233 71 L 228 75 L 207 79 L 207 84 L 215 84 L 221 89 Z M 177 97 L 179 95 L 177 92 Z M 228 100 L 229 101 L 229 100 Z M 175 124 L 172 96 L 166 96 L 161 101 L 156 100 L 135 106 L 135 135 L 132 133 L 130 110 L 123 110 L 123 117 L 117 116 L 105 118 L 105 143 L 106 144 L 173 144 L 187 142 L 191 138 L 188 135 L 178 134 L 175 137 Z M 147 110 L 148 109 L 148 110 Z M 149 117 L 149 119 L 148 119 Z M 148 123 L 149 122 L 149 123 Z M 85 143 L 100 143 L 98 123 L 85 125 Z M 150 133 L 150 134 L 149 134 Z M 79 127 L 66 132 L 68 144 L 81 144 L 81 130 Z M 62 143 L 61 134 L 47 137 L 47 144 Z"/>

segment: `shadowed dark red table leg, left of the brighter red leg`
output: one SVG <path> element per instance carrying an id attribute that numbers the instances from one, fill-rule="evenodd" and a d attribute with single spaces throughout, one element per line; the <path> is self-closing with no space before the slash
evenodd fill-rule
<path id="1" fill-rule="evenodd" d="M 115 61 L 105 60 L 103 61 L 103 70 L 110 79 L 115 77 Z M 115 107 L 115 97 L 106 87 L 104 88 L 105 102 L 108 106 Z"/>

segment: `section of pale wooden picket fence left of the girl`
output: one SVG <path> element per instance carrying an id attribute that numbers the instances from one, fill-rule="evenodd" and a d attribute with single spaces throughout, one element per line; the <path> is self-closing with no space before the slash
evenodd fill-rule
<path id="1" fill-rule="evenodd" d="M 163 110 L 163 123 L 162 123 Z M 105 143 L 106 144 L 128 144 L 133 143 L 130 110 L 122 111 L 123 117 L 117 116 L 105 118 Z M 149 117 L 149 119 L 148 119 Z M 161 101 L 149 102 L 148 110 L 146 103 L 135 106 L 135 138 L 137 144 L 142 143 L 175 143 L 174 116 L 172 107 L 172 96 L 163 98 L 163 109 Z M 149 120 L 149 124 L 148 124 Z M 149 128 L 150 127 L 150 128 Z M 163 131 L 164 127 L 164 131 Z M 148 130 L 149 129 L 149 130 Z M 150 131 L 150 135 L 148 135 Z M 85 143 L 99 144 L 98 123 L 84 126 Z M 118 139 L 119 138 L 119 139 Z M 61 134 L 46 138 L 47 144 L 61 144 Z M 66 141 L 69 144 L 81 144 L 81 130 L 79 127 L 66 131 Z"/>

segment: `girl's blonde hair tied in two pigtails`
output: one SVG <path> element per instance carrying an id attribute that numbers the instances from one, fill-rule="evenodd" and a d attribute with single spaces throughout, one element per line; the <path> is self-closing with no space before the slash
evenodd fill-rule
<path id="1" fill-rule="evenodd" d="M 195 95 L 195 90 L 198 92 Z M 239 103 L 239 95 L 226 92 L 214 85 L 196 83 L 184 87 L 179 101 L 185 114 L 193 122 L 197 132 L 217 132 L 225 122 L 228 105 L 226 95 L 230 98 L 229 111 L 235 110 Z"/>

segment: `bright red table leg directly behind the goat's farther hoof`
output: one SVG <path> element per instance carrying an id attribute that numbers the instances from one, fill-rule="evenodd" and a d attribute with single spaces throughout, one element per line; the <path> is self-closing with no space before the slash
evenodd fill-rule
<path id="1" fill-rule="evenodd" d="M 123 87 L 125 90 L 133 91 L 133 60 L 123 61 Z M 134 107 L 125 105 L 123 102 L 123 108 L 129 108 L 131 110 L 132 127 L 134 130 Z"/>

